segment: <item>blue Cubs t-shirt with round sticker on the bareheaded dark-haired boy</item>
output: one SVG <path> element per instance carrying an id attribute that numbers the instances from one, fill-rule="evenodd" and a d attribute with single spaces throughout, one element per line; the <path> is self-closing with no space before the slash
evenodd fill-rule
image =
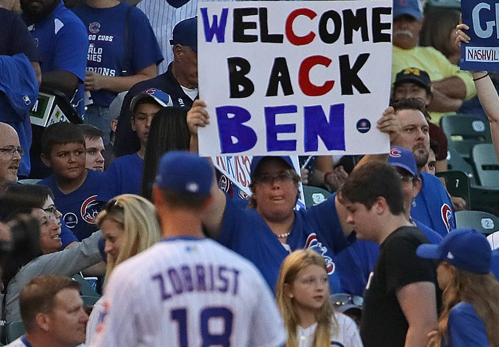
<path id="1" fill-rule="evenodd" d="M 55 175 L 38 182 L 38 184 L 47 186 L 52 190 L 54 205 L 61 211 L 64 222 L 78 241 L 88 238 L 97 230 L 94 219 L 101 210 L 100 204 L 97 202 L 97 194 L 100 192 L 105 173 L 94 170 L 87 171 L 88 176 L 85 182 L 69 194 L 64 194 L 59 190 Z"/>

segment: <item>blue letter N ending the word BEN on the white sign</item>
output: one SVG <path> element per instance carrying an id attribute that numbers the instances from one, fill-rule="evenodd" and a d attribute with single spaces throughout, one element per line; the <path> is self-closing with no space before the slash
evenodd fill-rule
<path id="1" fill-rule="evenodd" d="M 305 152 L 318 149 L 320 137 L 328 151 L 345 150 L 345 104 L 331 105 L 329 122 L 321 105 L 306 106 L 304 109 Z"/>

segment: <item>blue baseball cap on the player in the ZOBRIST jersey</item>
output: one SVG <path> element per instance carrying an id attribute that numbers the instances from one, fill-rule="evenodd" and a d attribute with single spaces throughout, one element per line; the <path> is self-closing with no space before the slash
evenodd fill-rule
<path id="1" fill-rule="evenodd" d="M 197 154 L 173 151 L 161 158 L 155 186 L 179 193 L 210 195 L 213 170 Z"/>

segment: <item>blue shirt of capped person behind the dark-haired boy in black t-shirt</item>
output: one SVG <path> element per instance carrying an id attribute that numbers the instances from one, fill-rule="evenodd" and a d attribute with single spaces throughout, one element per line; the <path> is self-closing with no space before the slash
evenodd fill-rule
<path id="1" fill-rule="evenodd" d="M 442 240 L 440 234 L 428 226 L 417 220 L 413 222 L 432 244 L 437 245 Z M 335 262 L 341 280 L 342 293 L 364 296 L 369 274 L 374 269 L 378 255 L 378 244 L 358 239 L 336 255 Z"/>

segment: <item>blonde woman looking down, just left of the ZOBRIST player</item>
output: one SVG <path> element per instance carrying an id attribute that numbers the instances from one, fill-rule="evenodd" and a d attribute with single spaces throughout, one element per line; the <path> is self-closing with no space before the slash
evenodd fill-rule
<path id="1" fill-rule="evenodd" d="M 105 209 L 97 216 L 96 222 L 105 241 L 105 280 L 118 264 L 151 247 L 162 237 L 154 205 L 138 195 L 123 194 L 109 200 Z M 97 301 L 90 315 L 87 345 L 95 334 L 102 302 L 102 298 Z"/>

